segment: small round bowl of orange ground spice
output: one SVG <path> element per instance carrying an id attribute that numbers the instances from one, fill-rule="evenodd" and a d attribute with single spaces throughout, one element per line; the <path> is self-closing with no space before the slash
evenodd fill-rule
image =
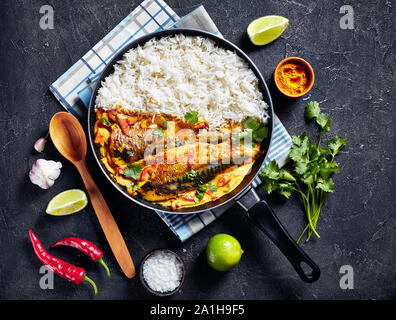
<path id="1" fill-rule="evenodd" d="M 278 63 L 274 79 L 277 88 L 285 96 L 298 98 L 311 90 L 315 75 L 307 61 L 298 57 L 289 57 Z"/>

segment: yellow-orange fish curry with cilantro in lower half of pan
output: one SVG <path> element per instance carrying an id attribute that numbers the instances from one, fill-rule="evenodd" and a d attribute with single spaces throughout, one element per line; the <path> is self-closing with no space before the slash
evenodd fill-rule
<path id="1" fill-rule="evenodd" d="M 129 194 L 176 210 L 215 201 L 241 183 L 260 154 L 260 142 L 240 143 L 241 133 L 248 133 L 244 123 L 210 128 L 200 118 L 100 108 L 94 143 Z"/>

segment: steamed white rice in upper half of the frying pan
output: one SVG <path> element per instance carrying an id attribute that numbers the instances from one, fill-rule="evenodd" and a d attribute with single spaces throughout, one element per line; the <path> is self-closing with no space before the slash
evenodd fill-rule
<path id="1" fill-rule="evenodd" d="M 197 111 L 211 126 L 256 117 L 268 105 L 258 79 L 237 54 L 207 38 L 175 35 L 129 50 L 103 82 L 96 108 L 184 117 Z"/>

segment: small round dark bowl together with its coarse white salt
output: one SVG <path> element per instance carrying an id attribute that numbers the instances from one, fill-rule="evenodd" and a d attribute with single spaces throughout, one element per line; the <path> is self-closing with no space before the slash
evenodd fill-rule
<path id="1" fill-rule="evenodd" d="M 183 260 L 173 251 L 156 249 L 142 260 L 139 277 L 152 294 L 165 297 L 180 290 L 186 276 Z"/>

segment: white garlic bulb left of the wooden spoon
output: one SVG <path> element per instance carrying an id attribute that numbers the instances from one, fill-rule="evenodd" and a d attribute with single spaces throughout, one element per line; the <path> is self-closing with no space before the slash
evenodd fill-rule
<path id="1" fill-rule="evenodd" d="M 29 172 L 30 181 L 42 189 L 52 187 L 60 175 L 62 163 L 53 160 L 38 159 Z"/>

